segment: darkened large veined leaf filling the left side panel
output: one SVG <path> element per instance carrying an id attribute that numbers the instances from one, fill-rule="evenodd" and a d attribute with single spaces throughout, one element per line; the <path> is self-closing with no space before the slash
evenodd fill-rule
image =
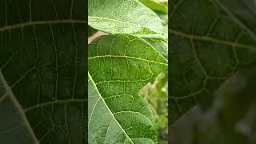
<path id="1" fill-rule="evenodd" d="M 0 2 L 0 143 L 86 142 L 86 2 Z"/>

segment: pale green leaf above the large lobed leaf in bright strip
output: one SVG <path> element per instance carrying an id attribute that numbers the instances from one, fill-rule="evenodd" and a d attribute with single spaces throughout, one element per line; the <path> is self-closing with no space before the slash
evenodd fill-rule
<path id="1" fill-rule="evenodd" d="M 137 0 L 89 0 L 88 23 L 110 34 L 161 34 L 162 21 Z"/>

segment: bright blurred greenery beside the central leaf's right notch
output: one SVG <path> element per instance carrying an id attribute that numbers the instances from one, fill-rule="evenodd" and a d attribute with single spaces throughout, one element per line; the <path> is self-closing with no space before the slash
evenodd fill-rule
<path id="1" fill-rule="evenodd" d="M 142 98 L 154 113 L 154 127 L 158 130 L 159 143 L 167 142 L 168 135 L 168 74 L 159 74 L 154 82 L 140 91 Z"/>

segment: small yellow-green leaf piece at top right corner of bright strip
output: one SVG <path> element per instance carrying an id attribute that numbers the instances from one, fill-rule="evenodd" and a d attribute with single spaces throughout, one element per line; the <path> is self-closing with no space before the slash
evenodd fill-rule
<path id="1" fill-rule="evenodd" d="M 149 7 L 151 10 L 161 11 L 163 13 L 168 13 L 168 6 L 157 2 L 155 0 L 139 0 L 145 6 Z"/>

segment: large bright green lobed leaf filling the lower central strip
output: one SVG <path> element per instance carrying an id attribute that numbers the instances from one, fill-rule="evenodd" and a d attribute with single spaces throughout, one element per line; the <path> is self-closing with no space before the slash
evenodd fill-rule
<path id="1" fill-rule="evenodd" d="M 116 34 L 94 40 L 88 62 L 89 142 L 156 143 L 139 90 L 167 70 L 167 59 L 142 38 Z"/>

